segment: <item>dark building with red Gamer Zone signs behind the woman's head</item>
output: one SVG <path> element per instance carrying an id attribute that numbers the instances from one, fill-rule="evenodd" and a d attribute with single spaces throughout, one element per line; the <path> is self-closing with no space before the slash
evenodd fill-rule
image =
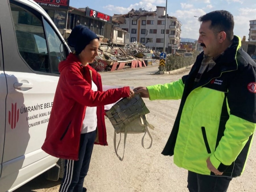
<path id="1" fill-rule="evenodd" d="M 113 35 L 112 16 L 99 11 L 69 6 L 69 0 L 34 0 L 51 17 L 64 38 L 77 25 L 87 26 L 98 35 L 101 43 L 111 42 Z"/>

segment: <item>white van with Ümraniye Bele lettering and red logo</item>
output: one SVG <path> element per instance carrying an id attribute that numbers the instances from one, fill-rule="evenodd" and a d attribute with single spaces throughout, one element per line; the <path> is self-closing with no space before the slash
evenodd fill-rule
<path id="1" fill-rule="evenodd" d="M 33 0 L 0 1 L 0 192 L 13 191 L 56 166 L 58 159 L 41 146 L 58 64 L 70 52 L 63 40 Z"/>

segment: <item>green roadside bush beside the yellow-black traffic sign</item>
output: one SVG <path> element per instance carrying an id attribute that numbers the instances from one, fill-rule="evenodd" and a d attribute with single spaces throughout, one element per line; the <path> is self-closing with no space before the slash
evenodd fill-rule
<path id="1" fill-rule="evenodd" d="M 165 66 L 159 66 L 159 71 L 172 71 L 180 69 L 195 63 L 197 55 L 193 53 L 193 57 L 184 57 L 183 55 L 169 55 L 165 58 Z"/>

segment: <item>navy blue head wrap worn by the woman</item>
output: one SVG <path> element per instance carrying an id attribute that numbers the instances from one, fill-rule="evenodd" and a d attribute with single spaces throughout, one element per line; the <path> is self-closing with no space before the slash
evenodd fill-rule
<path id="1" fill-rule="evenodd" d="M 71 31 L 68 38 L 69 46 L 75 48 L 76 54 L 80 54 L 91 40 L 98 39 L 98 36 L 84 25 L 77 25 Z"/>

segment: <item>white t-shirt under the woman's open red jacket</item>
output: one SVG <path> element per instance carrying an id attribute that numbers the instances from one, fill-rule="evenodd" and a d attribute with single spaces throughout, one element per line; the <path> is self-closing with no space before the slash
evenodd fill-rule
<path id="1" fill-rule="evenodd" d="M 97 91 L 96 84 L 92 81 L 92 90 Z M 81 129 L 81 133 L 89 133 L 96 130 L 97 127 L 97 107 L 86 107 L 85 117 Z"/>

